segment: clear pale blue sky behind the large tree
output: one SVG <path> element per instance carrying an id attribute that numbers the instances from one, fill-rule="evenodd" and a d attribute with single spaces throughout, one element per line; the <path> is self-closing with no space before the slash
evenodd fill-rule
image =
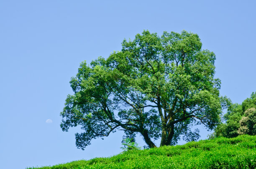
<path id="1" fill-rule="evenodd" d="M 120 153 L 122 132 L 75 146 L 59 113 L 79 64 L 150 32 L 197 33 L 216 55 L 220 93 L 241 103 L 256 91 L 254 0 L 1 0 L 0 167 L 25 169 Z M 48 120 L 46 123 L 46 120 Z M 201 129 L 201 139 L 207 132 Z M 143 146 L 138 138 L 139 146 Z M 184 142 L 179 142 L 183 144 Z"/>

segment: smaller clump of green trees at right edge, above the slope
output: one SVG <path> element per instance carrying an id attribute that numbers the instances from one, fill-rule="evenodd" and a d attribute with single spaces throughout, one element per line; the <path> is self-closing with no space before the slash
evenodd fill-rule
<path id="1" fill-rule="evenodd" d="M 242 104 L 232 104 L 223 116 L 223 123 L 218 125 L 211 137 L 237 137 L 241 134 L 256 134 L 256 92 Z"/>

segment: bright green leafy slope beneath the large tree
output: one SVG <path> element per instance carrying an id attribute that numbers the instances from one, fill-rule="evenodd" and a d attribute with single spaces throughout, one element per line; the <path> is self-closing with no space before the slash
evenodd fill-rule
<path id="1" fill-rule="evenodd" d="M 27 169 L 256 169 L 256 136 L 217 138 Z"/>

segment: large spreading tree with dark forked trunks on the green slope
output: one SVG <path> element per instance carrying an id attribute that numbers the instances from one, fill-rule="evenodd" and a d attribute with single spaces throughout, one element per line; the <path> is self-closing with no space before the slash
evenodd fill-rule
<path id="1" fill-rule="evenodd" d="M 143 31 L 107 59 L 82 62 L 70 81 L 74 95 L 67 96 L 61 129 L 81 125 L 85 132 L 75 134 L 81 149 L 118 129 L 141 134 L 149 148 L 160 137 L 160 146 L 176 144 L 181 134 L 196 140 L 192 124 L 213 129 L 226 100 L 214 79 L 215 55 L 201 47 L 194 33 Z"/>

